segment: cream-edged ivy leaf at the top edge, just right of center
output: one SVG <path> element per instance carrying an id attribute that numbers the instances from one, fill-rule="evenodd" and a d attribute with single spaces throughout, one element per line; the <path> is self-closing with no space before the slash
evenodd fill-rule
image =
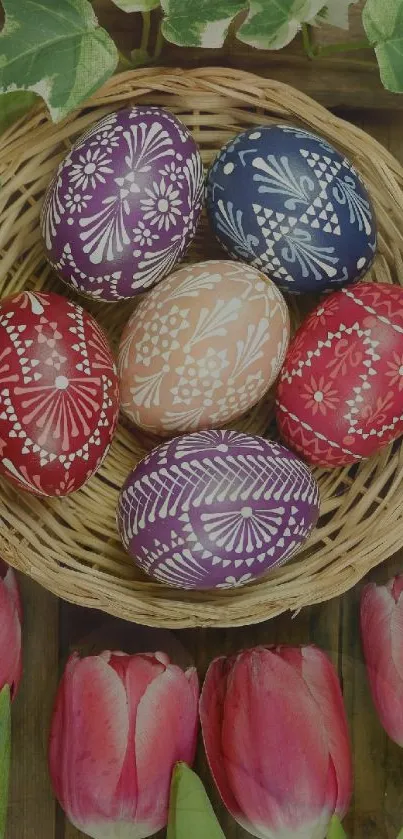
<path id="1" fill-rule="evenodd" d="M 282 49 L 323 5 L 323 0 L 250 0 L 250 12 L 238 38 L 258 49 Z"/>

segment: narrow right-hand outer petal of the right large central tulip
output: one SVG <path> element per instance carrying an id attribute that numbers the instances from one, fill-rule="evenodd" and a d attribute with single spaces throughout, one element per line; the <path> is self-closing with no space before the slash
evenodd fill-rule
<path id="1" fill-rule="evenodd" d="M 333 664 L 318 647 L 302 648 L 302 676 L 312 694 L 326 731 L 332 766 L 329 768 L 328 801 L 343 818 L 350 806 L 353 772 L 346 712 L 340 682 Z"/>

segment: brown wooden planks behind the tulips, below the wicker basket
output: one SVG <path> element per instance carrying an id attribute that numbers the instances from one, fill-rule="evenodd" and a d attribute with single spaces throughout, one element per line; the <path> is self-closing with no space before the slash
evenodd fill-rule
<path id="1" fill-rule="evenodd" d="M 403 570 L 403 551 L 371 577 L 385 581 Z M 25 605 L 25 674 L 13 707 L 13 759 L 6 839 L 83 839 L 52 798 L 47 778 L 46 739 L 58 664 L 69 651 L 86 653 L 119 646 L 129 651 L 184 647 L 183 662 L 193 661 L 203 679 L 217 655 L 271 643 L 316 643 L 338 669 L 350 723 L 355 794 L 345 821 L 350 839 L 396 839 L 403 822 L 403 750 L 382 731 L 369 697 L 358 634 L 360 587 L 328 604 L 283 615 L 258 626 L 234 630 L 144 630 L 101 613 L 59 603 L 29 580 L 22 581 Z M 181 654 L 179 653 L 179 660 Z M 203 778 L 226 839 L 247 839 L 226 813 L 211 782 L 202 747 L 196 769 Z M 162 832 L 158 839 L 163 839 Z M 206 837 L 208 839 L 208 837 Z"/>

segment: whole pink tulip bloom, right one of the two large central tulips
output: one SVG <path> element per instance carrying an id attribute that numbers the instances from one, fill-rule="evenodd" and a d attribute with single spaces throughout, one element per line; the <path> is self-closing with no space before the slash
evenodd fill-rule
<path id="1" fill-rule="evenodd" d="M 340 685 L 315 647 L 256 647 L 209 667 L 207 758 L 228 810 L 260 839 L 324 839 L 351 796 Z"/>

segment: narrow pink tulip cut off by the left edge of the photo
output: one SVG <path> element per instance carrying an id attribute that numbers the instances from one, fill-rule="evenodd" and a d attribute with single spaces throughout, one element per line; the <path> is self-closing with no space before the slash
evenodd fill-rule
<path id="1" fill-rule="evenodd" d="M 10 686 L 13 699 L 22 674 L 22 606 L 12 568 L 0 560 L 0 690 Z"/>

